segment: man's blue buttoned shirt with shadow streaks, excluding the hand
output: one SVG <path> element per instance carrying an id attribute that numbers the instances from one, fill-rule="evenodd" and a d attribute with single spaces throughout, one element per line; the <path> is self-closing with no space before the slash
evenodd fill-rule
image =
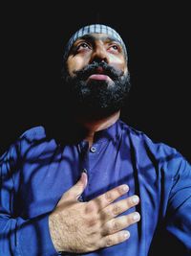
<path id="1" fill-rule="evenodd" d="M 174 255 L 191 255 L 190 164 L 180 152 L 118 120 L 96 132 L 90 150 L 85 141 L 63 146 L 36 127 L 2 155 L 1 256 L 57 255 L 48 216 L 83 169 L 88 173 L 83 200 L 128 184 L 130 190 L 121 198 L 136 194 L 140 202 L 124 214 L 138 211 L 141 216 L 127 228 L 129 240 L 84 255 L 150 256 L 167 248 Z"/>

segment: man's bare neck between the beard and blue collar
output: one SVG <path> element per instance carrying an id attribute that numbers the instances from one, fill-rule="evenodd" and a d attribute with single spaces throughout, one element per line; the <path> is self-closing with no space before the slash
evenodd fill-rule
<path id="1" fill-rule="evenodd" d="M 98 120 L 80 120 L 79 123 L 82 127 L 86 128 L 87 134 L 85 140 L 89 142 L 89 147 L 94 142 L 94 136 L 96 131 L 109 128 L 115 124 L 119 118 L 120 111 L 110 115 L 109 117 L 98 119 Z"/>

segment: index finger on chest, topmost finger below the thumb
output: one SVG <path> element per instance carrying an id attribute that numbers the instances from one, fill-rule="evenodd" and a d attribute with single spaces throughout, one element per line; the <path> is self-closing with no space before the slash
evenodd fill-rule
<path id="1" fill-rule="evenodd" d="M 102 194 L 101 196 L 91 200 L 91 204 L 95 204 L 97 211 L 99 211 L 108 206 L 109 204 L 111 204 L 117 198 L 127 193 L 128 190 L 129 187 L 126 184 L 117 186 L 116 188 L 109 190 L 106 193 Z"/>

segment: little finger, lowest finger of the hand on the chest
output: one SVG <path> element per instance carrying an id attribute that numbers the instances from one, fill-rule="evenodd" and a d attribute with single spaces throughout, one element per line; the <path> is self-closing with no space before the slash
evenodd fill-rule
<path id="1" fill-rule="evenodd" d="M 120 244 L 129 239 L 130 233 L 127 230 L 119 231 L 116 234 L 109 235 L 100 240 L 100 247 L 109 247 L 112 245 Z"/>

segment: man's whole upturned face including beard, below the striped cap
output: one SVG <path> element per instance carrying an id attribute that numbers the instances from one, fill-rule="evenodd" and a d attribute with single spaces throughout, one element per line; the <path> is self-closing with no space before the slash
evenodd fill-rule
<path id="1" fill-rule="evenodd" d="M 74 42 L 64 77 L 75 110 L 93 118 L 118 111 L 130 88 L 123 48 L 105 34 L 84 35 Z"/>

